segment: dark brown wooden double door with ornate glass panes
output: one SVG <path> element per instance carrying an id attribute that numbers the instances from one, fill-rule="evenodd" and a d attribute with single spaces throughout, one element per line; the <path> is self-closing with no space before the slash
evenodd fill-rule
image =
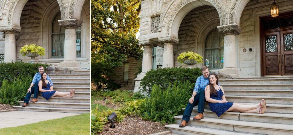
<path id="1" fill-rule="evenodd" d="M 263 75 L 293 75 L 293 28 L 262 34 Z"/>

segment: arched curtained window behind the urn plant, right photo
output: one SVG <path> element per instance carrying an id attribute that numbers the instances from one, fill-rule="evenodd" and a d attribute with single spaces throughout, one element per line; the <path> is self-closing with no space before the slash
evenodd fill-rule
<path id="1" fill-rule="evenodd" d="M 205 42 L 205 65 L 209 69 L 222 69 L 224 65 L 224 35 L 212 30 Z"/>

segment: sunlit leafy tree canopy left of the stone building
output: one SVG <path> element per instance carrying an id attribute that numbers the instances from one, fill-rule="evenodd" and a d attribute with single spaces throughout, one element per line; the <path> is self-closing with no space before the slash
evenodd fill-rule
<path id="1" fill-rule="evenodd" d="M 141 57 L 140 11 L 140 0 L 91 1 L 91 77 L 97 85 L 127 58 Z"/>

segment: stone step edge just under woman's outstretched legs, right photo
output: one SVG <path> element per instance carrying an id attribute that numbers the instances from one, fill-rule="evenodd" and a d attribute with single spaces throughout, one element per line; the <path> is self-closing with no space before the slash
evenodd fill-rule
<path id="1" fill-rule="evenodd" d="M 197 112 L 197 108 L 193 108 L 192 111 Z M 209 108 L 205 108 L 204 113 L 205 112 L 214 113 Z M 242 116 L 246 116 L 246 117 L 251 117 L 251 116 L 253 116 L 253 117 L 272 117 L 272 118 L 275 118 L 275 119 L 292 119 L 293 120 L 293 114 L 281 114 L 281 115 L 279 115 L 279 113 L 257 114 L 257 113 L 242 113 L 242 112 L 224 112 L 224 114 L 238 115 L 238 116 L 242 115 Z"/>

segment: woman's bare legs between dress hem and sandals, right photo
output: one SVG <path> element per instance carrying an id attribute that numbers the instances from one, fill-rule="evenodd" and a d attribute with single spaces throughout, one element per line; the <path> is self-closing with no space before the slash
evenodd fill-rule
<path id="1" fill-rule="evenodd" d="M 234 103 L 226 112 L 243 112 L 243 113 L 258 113 L 259 104 L 245 105 Z"/>

